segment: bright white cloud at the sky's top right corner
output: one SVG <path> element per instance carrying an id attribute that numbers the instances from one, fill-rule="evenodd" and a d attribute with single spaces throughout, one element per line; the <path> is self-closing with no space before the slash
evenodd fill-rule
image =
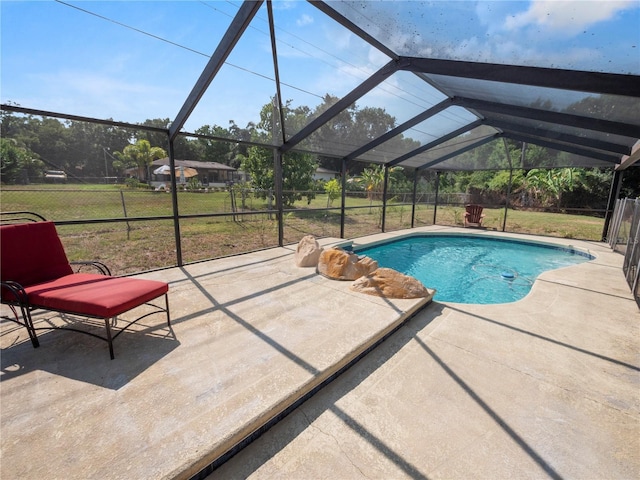
<path id="1" fill-rule="evenodd" d="M 618 12 L 637 8 L 635 0 L 549 1 L 534 0 L 526 12 L 507 17 L 505 28 L 516 30 L 529 25 L 574 34 L 613 18 Z"/>

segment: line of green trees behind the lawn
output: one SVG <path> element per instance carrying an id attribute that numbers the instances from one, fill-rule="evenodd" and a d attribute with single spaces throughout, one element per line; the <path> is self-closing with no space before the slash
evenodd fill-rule
<path id="1" fill-rule="evenodd" d="M 285 132 L 295 133 L 337 101 L 337 97 L 326 95 L 316 109 L 293 107 L 288 101 L 282 112 L 278 112 L 270 102 L 261 109 L 259 121 L 250 122 L 244 128 L 230 121 L 227 128 L 204 125 L 193 132 L 195 136 L 178 136 L 174 142 L 175 156 L 177 159 L 217 162 L 242 169 L 250 174 L 254 188 L 268 192 L 274 185 L 273 151 L 257 144 L 272 144 L 274 137 L 277 142 L 281 141 L 282 122 Z M 590 103 L 589 106 L 603 111 L 614 108 L 609 100 Z M 583 108 L 586 107 L 578 102 L 569 111 L 579 112 Z M 141 126 L 164 129 L 169 123 L 169 119 L 149 119 Z M 312 198 L 311 192 L 318 188 L 313 181 L 318 166 L 340 170 L 337 153 L 336 156 L 330 156 L 312 152 L 326 151 L 327 146 L 336 146 L 336 152 L 354 149 L 354 146 L 366 144 L 395 126 L 396 119 L 381 108 L 359 108 L 354 104 L 341 112 L 299 145 L 300 151 L 289 152 L 283 157 L 285 204 L 292 204 L 305 195 L 309 200 Z M 146 167 L 153 160 L 166 156 L 168 147 L 166 135 L 162 132 L 16 115 L 7 111 L 2 112 L 0 127 L 0 173 L 4 184 L 37 182 L 47 170 L 63 170 L 72 180 L 93 179 L 92 183 L 95 183 L 100 178 L 123 177 L 126 171 L 135 169 L 136 176 L 146 180 Z M 601 208 L 603 201 L 606 202 L 611 169 L 546 169 L 545 166 L 570 165 L 568 158 L 562 158 L 569 154 L 528 145 L 522 157 L 520 142 L 507 140 L 506 145 L 516 168 L 512 174 L 505 170 L 503 142 L 494 141 L 456 158 L 461 169 L 440 176 L 440 191 L 483 193 L 489 198 L 493 195 L 499 202 L 504 198 L 510 182 L 511 191 L 523 206 L 562 207 L 567 199 L 593 203 L 594 198 L 598 198 L 604 200 L 599 200 L 598 205 L 592 208 Z M 419 146 L 419 142 L 398 135 L 385 143 L 384 151 L 406 152 Z M 382 159 L 385 162 L 390 160 L 393 158 Z M 533 165 L 536 168 L 528 168 Z M 640 193 L 638 170 L 633 168 L 626 175 L 623 186 L 625 195 Z M 380 188 L 380 182 L 371 179 L 383 178 L 380 167 L 355 161 L 349 162 L 348 174 L 359 180 L 350 183 L 351 188 L 369 188 L 369 193 L 371 189 Z M 412 189 L 413 172 L 394 169 L 392 178 L 393 190 Z M 423 174 L 420 188 L 432 189 L 434 179 L 432 173 Z M 335 190 L 335 186 L 331 188 Z"/>

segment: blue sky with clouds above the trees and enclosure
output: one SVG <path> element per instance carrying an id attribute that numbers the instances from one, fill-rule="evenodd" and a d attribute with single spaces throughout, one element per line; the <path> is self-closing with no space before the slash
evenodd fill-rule
<path id="1" fill-rule="evenodd" d="M 2 103 L 124 122 L 174 119 L 238 1 L 0 2 Z M 334 8 L 401 55 L 640 75 L 640 1 L 346 1 Z M 282 96 L 315 108 L 389 58 L 302 0 L 274 1 Z M 185 130 L 245 127 L 275 94 L 266 6 Z M 442 100 L 406 72 L 358 101 L 401 123 Z M 469 121 L 450 112 L 454 125 Z"/>

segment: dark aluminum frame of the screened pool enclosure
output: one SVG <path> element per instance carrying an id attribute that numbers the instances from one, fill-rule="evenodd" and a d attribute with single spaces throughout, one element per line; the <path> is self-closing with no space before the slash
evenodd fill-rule
<path id="1" fill-rule="evenodd" d="M 363 158 L 363 156 L 367 152 L 375 149 L 380 145 L 383 145 L 385 142 L 391 140 L 392 138 L 401 135 L 403 132 L 406 132 L 420 122 L 432 118 L 433 116 L 452 107 L 462 107 L 466 109 L 473 115 L 475 120 L 469 122 L 467 125 L 455 129 L 452 132 L 441 135 L 433 142 L 422 145 L 417 149 L 414 149 L 403 155 L 398 155 L 396 158 L 392 158 L 391 160 L 384 162 L 382 165 L 385 168 L 385 191 L 387 189 L 386 179 L 388 179 L 388 169 L 390 167 L 403 166 L 403 163 L 407 162 L 410 159 L 415 161 L 417 155 L 434 149 L 435 147 L 442 145 L 444 142 L 454 140 L 459 136 L 464 136 L 468 132 L 481 125 L 491 127 L 495 133 L 491 136 L 478 139 L 477 141 L 474 141 L 473 143 L 464 147 L 454 149 L 451 153 L 448 153 L 442 157 L 425 160 L 423 163 L 410 168 L 415 169 L 416 175 L 417 172 L 426 169 L 437 171 L 438 165 L 446 161 L 447 159 L 454 158 L 464 152 L 477 148 L 497 138 L 509 138 L 519 142 L 537 144 L 555 150 L 573 153 L 585 158 L 585 166 L 588 165 L 586 159 L 597 159 L 599 161 L 610 164 L 611 168 L 617 169 L 618 172 L 631 167 L 639 159 L 637 150 L 635 152 L 633 151 L 633 145 L 635 141 L 640 138 L 640 117 L 636 117 L 633 122 L 622 122 L 600 118 L 597 116 L 587 117 L 579 114 L 564 113 L 555 111 L 551 108 L 532 108 L 522 105 L 516 105 L 514 103 L 509 103 L 506 101 L 492 102 L 483 100 L 482 98 L 472 98 L 469 96 L 461 95 L 461 92 L 456 91 L 455 85 L 452 86 L 446 82 L 446 78 L 461 78 L 467 80 L 478 80 L 482 82 L 497 82 L 509 85 L 519 85 L 522 86 L 522 88 L 535 87 L 557 89 L 562 91 L 594 93 L 598 95 L 615 95 L 617 97 L 629 97 L 630 99 L 635 100 L 640 98 L 640 76 L 638 75 L 402 56 L 397 52 L 394 52 L 390 46 L 385 45 L 384 43 L 376 39 L 375 36 L 365 31 L 364 28 L 356 25 L 354 22 L 338 13 L 337 10 L 335 10 L 331 6 L 331 2 L 315 0 L 310 1 L 309 3 L 316 7 L 318 11 L 329 16 L 340 25 L 348 29 L 352 34 L 367 42 L 369 45 L 376 48 L 381 53 L 387 55 L 389 57 L 389 62 L 374 74 L 372 74 L 365 81 L 357 85 L 347 95 L 340 98 L 337 103 L 327 109 L 320 116 L 310 121 L 298 132 L 293 133 L 287 140 L 287 135 L 285 132 L 286 126 L 282 119 L 283 106 L 282 99 L 280 97 L 280 79 L 278 75 L 277 65 L 278 57 L 275 47 L 276 30 L 273 26 L 271 0 L 266 0 L 266 2 L 269 11 L 269 30 L 271 36 L 271 48 L 277 88 L 277 108 L 278 114 L 281 116 L 280 125 L 282 128 L 282 135 L 280 137 L 274 135 L 272 138 L 273 143 L 265 144 L 262 146 L 271 148 L 274 151 L 274 161 L 276 166 L 275 170 L 277 174 L 275 179 L 275 186 L 276 191 L 279 192 L 279 197 L 281 196 L 282 192 L 282 169 L 278 168 L 278 166 L 281 167 L 282 156 L 286 155 L 287 152 L 290 151 L 298 151 L 298 149 L 302 151 L 303 149 L 300 147 L 303 141 L 308 139 L 314 132 L 316 132 L 322 126 L 326 125 L 341 112 L 349 108 L 366 93 L 370 92 L 381 82 L 385 81 L 397 72 L 411 72 L 415 74 L 417 78 L 423 80 L 431 87 L 437 88 L 444 95 L 445 100 L 429 108 L 426 108 L 423 112 L 414 116 L 410 120 L 407 120 L 404 123 L 392 128 L 388 132 L 369 141 L 368 143 L 360 145 L 346 155 L 339 157 L 342 162 L 343 180 L 344 173 L 346 172 L 346 165 L 348 164 L 348 162 L 354 160 L 367 162 L 368 160 L 366 158 Z M 2 105 L 1 108 L 5 111 L 51 116 L 70 120 L 81 120 L 93 123 L 133 128 L 137 130 L 148 129 L 155 132 L 166 133 L 169 143 L 169 162 L 171 167 L 173 168 L 175 166 L 175 155 L 173 151 L 174 140 L 178 135 L 190 135 L 188 132 L 182 131 L 185 122 L 198 105 L 198 102 L 202 99 L 203 95 L 207 91 L 207 88 L 220 71 L 225 60 L 232 52 L 234 46 L 243 36 L 245 30 L 249 27 L 252 19 L 255 17 L 256 13 L 264 3 L 265 0 L 257 0 L 244 1 L 241 4 L 222 40 L 216 47 L 215 51 L 212 53 L 203 72 L 193 86 L 191 92 L 185 98 L 185 101 L 179 113 L 176 115 L 171 125 L 166 129 L 159 129 L 156 127 L 143 127 L 137 124 L 134 125 L 124 122 L 113 122 L 96 118 L 79 117 L 65 113 L 46 112 L 33 108 L 22 108 L 16 105 Z M 508 118 L 513 120 L 505 120 L 503 116 L 507 116 Z M 543 122 L 545 126 L 536 126 L 529 128 L 518 124 L 517 119 Z M 559 127 L 559 129 L 554 130 L 555 126 Z M 582 133 L 579 135 L 567 134 L 564 133 L 560 127 L 571 127 L 572 129 L 578 129 Z M 608 135 L 614 135 L 618 138 L 624 137 L 625 143 L 620 143 L 620 141 L 598 139 L 592 136 L 595 133 L 599 135 L 602 134 L 605 137 Z M 202 137 L 202 135 L 199 136 Z M 212 140 L 229 141 L 228 138 L 217 138 L 214 136 L 206 138 L 210 138 Z M 237 143 L 243 142 L 237 141 Z M 316 153 L 332 156 L 326 152 Z M 542 168 L 553 168 L 553 166 L 545 166 Z M 616 178 L 618 178 L 618 175 L 616 175 Z M 173 182 L 175 182 L 175 179 L 173 179 Z M 614 190 L 615 189 L 612 188 L 612 194 L 615 193 Z M 175 235 L 178 265 L 182 265 L 179 230 L 179 219 L 181 217 L 178 212 L 176 191 L 176 185 L 174 184 L 172 185 L 174 209 L 173 218 L 174 224 L 176 225 Z M 609 204 L 612 204 L 611 200 L 612 199 L 610 198 Z M 278 198 L 276 201 L 277 205 L 279 205 L 279 244 L 282 245 L 282 201 L 281 198 Z M 344 188 L 341 234 L 344 234 Z"/>

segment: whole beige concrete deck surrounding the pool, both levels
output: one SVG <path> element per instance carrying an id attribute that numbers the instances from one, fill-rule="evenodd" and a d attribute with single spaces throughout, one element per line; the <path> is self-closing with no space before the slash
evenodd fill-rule
<path id="1" fill-rule="evenodd" d="M 113 361 L 73 333 L 33 349 L 3 321 L 0 475 L 189 478 L 402 325 L 210 477 L 638 478 L 640 311 L 622 257 L 500 236 L 597 258 L 519 302 L 424 309 L 297 268 L 295 246 L 152 272 L 171 284 L 172 329 L 149 317 Z"/>

